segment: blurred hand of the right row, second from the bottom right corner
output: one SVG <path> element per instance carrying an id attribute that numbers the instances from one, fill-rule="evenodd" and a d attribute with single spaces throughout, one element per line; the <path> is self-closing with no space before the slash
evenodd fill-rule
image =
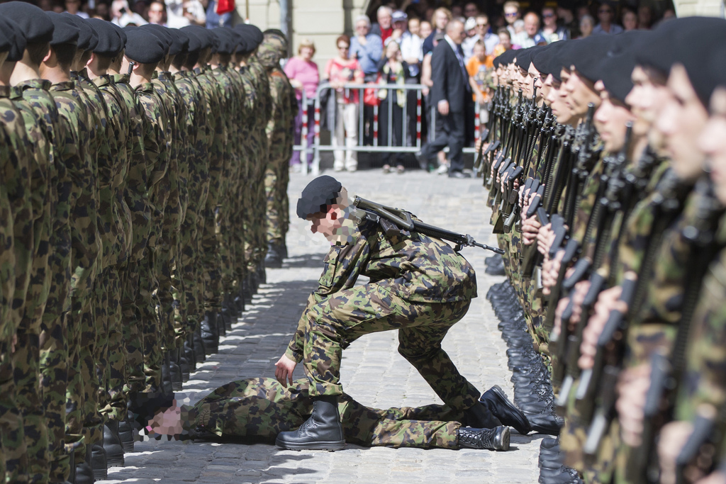
<path id="1" fill-rule="evenodd" d="M 643 441 L 645 394 L 650 387 L 650 364 L 642 364 L 621 372 L 615 408 L 620 417 L 623 442 L 637 447 Z"/>

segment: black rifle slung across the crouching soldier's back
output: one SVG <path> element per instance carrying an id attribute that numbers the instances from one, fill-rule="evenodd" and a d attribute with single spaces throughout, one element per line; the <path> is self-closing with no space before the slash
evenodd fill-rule
<path id="1" fill-rule="evenodd" d="M 353 205 L 359 209 L 362 213 L 356 214 L 356 217 L 362 219 L 366 217 L 370 221 L 380 223 L 380 226 L 386 231 L 386 234 L 400 234 L 403 231 L 416 231 L 420 234 L 428 235 L 436 239 L 448 240 L 454 242 L 456 247 L 454 251 L 457 253 L 462 250 L 463 247 L 481 247 L 484 250 L 491 250 L 497 254 L 504 254 L 505 251 L 499 249 L 499 247 L 491 247 L 486 244 L 480 244 L 474 240 L 469 234 L 458 234 L 440 227 L 423 223 L 412 217 L 410 212 L 401 210 L 399 208 L 388 207 L 381 205 L 380 203 L 365 200 L 361 197 L 355 197 Z"/>

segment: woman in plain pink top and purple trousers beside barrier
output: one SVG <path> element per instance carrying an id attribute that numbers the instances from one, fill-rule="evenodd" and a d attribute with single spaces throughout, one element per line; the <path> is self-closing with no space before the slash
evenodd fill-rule
<path id="1" fill-rule="evenodd" d="M 315 119 L 315 93 L 320 81 L 317 64 L 311 59 L 315 54 L 315 44 L 313 41 L 304 38 L 298 46 L 298 55 L 292 57 L 285 64 L 285 74 L 290 79 L 290 85 L 295 88 L 295 95 L 298 97 L 298 115 L 295 117 L 295 144 L 300 144 L 303 131 L 303 110 L 308 112 L 308 134 L 307 147 L 309 149 L 308 165 L 313 160 L 313 145 L 315 130 L 311 129 L 313 120 Z M 305 91 L 306 105 L 303 106 L 303 91 Z M 295 171 L 300 169 L 300 152 L 293 151 L 293 157 L 290 158 L 290 165 Z"/>

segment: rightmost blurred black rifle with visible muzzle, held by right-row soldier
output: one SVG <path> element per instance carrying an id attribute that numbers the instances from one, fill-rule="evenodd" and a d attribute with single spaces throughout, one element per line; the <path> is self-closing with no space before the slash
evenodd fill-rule
<path id="1" fill-rule="evenodd" d="M 723 213 L 722 205 L 714 195 L 710 179 L 699 179 L 695 191 L 699 194 L 696 214 L 693 223 L 682 231 L 690 245 L 690 254 L 681 319 L 670 361 L 661 353 L 654 353 L 650 361 L 650 387 L 645 398 L 643 440 L 635 448 L 635 453 L 630 455 L 626 469 L 627 475 L 634 482 L 652 482 L 650 477 L 657 476 L 658 469 L 648 467 L 648 462 L 653 462 L 650 457 L 653 455 L 655 436 L 672 419 L 677 389 L 685 373 L 685 353 L 689 345 L 693 313 L 701 294 L 701 283 L 709 263 L 719 249 L 715 242 L 715 232 Z"/>

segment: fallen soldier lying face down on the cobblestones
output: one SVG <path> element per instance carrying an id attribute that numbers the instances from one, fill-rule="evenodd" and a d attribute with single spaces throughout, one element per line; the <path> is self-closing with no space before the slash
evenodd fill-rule
<path id="1" fill-rule="evenodd" d="M 287 388 L 272 378 L 250 378 L 227 383 L 195 405 L 179 405 L 172 394 L 136 396 L 134 414 L 148 438 L 169 435 L 176 440 L 256 438 L 274 440 L 280 432 L 301 426 L 313 410 L 308 380 L 295 380 Z M 482 403 L 507 403 L 495 385 L 481 397 Z M 347 443 L 359 446 L 417 448 L 509 449 L 509 427 L 465 427 L 464 416 L 444 405 L 388 410 L 372 409 L 344 394 L 338 402 L 340 422 Z"/>

